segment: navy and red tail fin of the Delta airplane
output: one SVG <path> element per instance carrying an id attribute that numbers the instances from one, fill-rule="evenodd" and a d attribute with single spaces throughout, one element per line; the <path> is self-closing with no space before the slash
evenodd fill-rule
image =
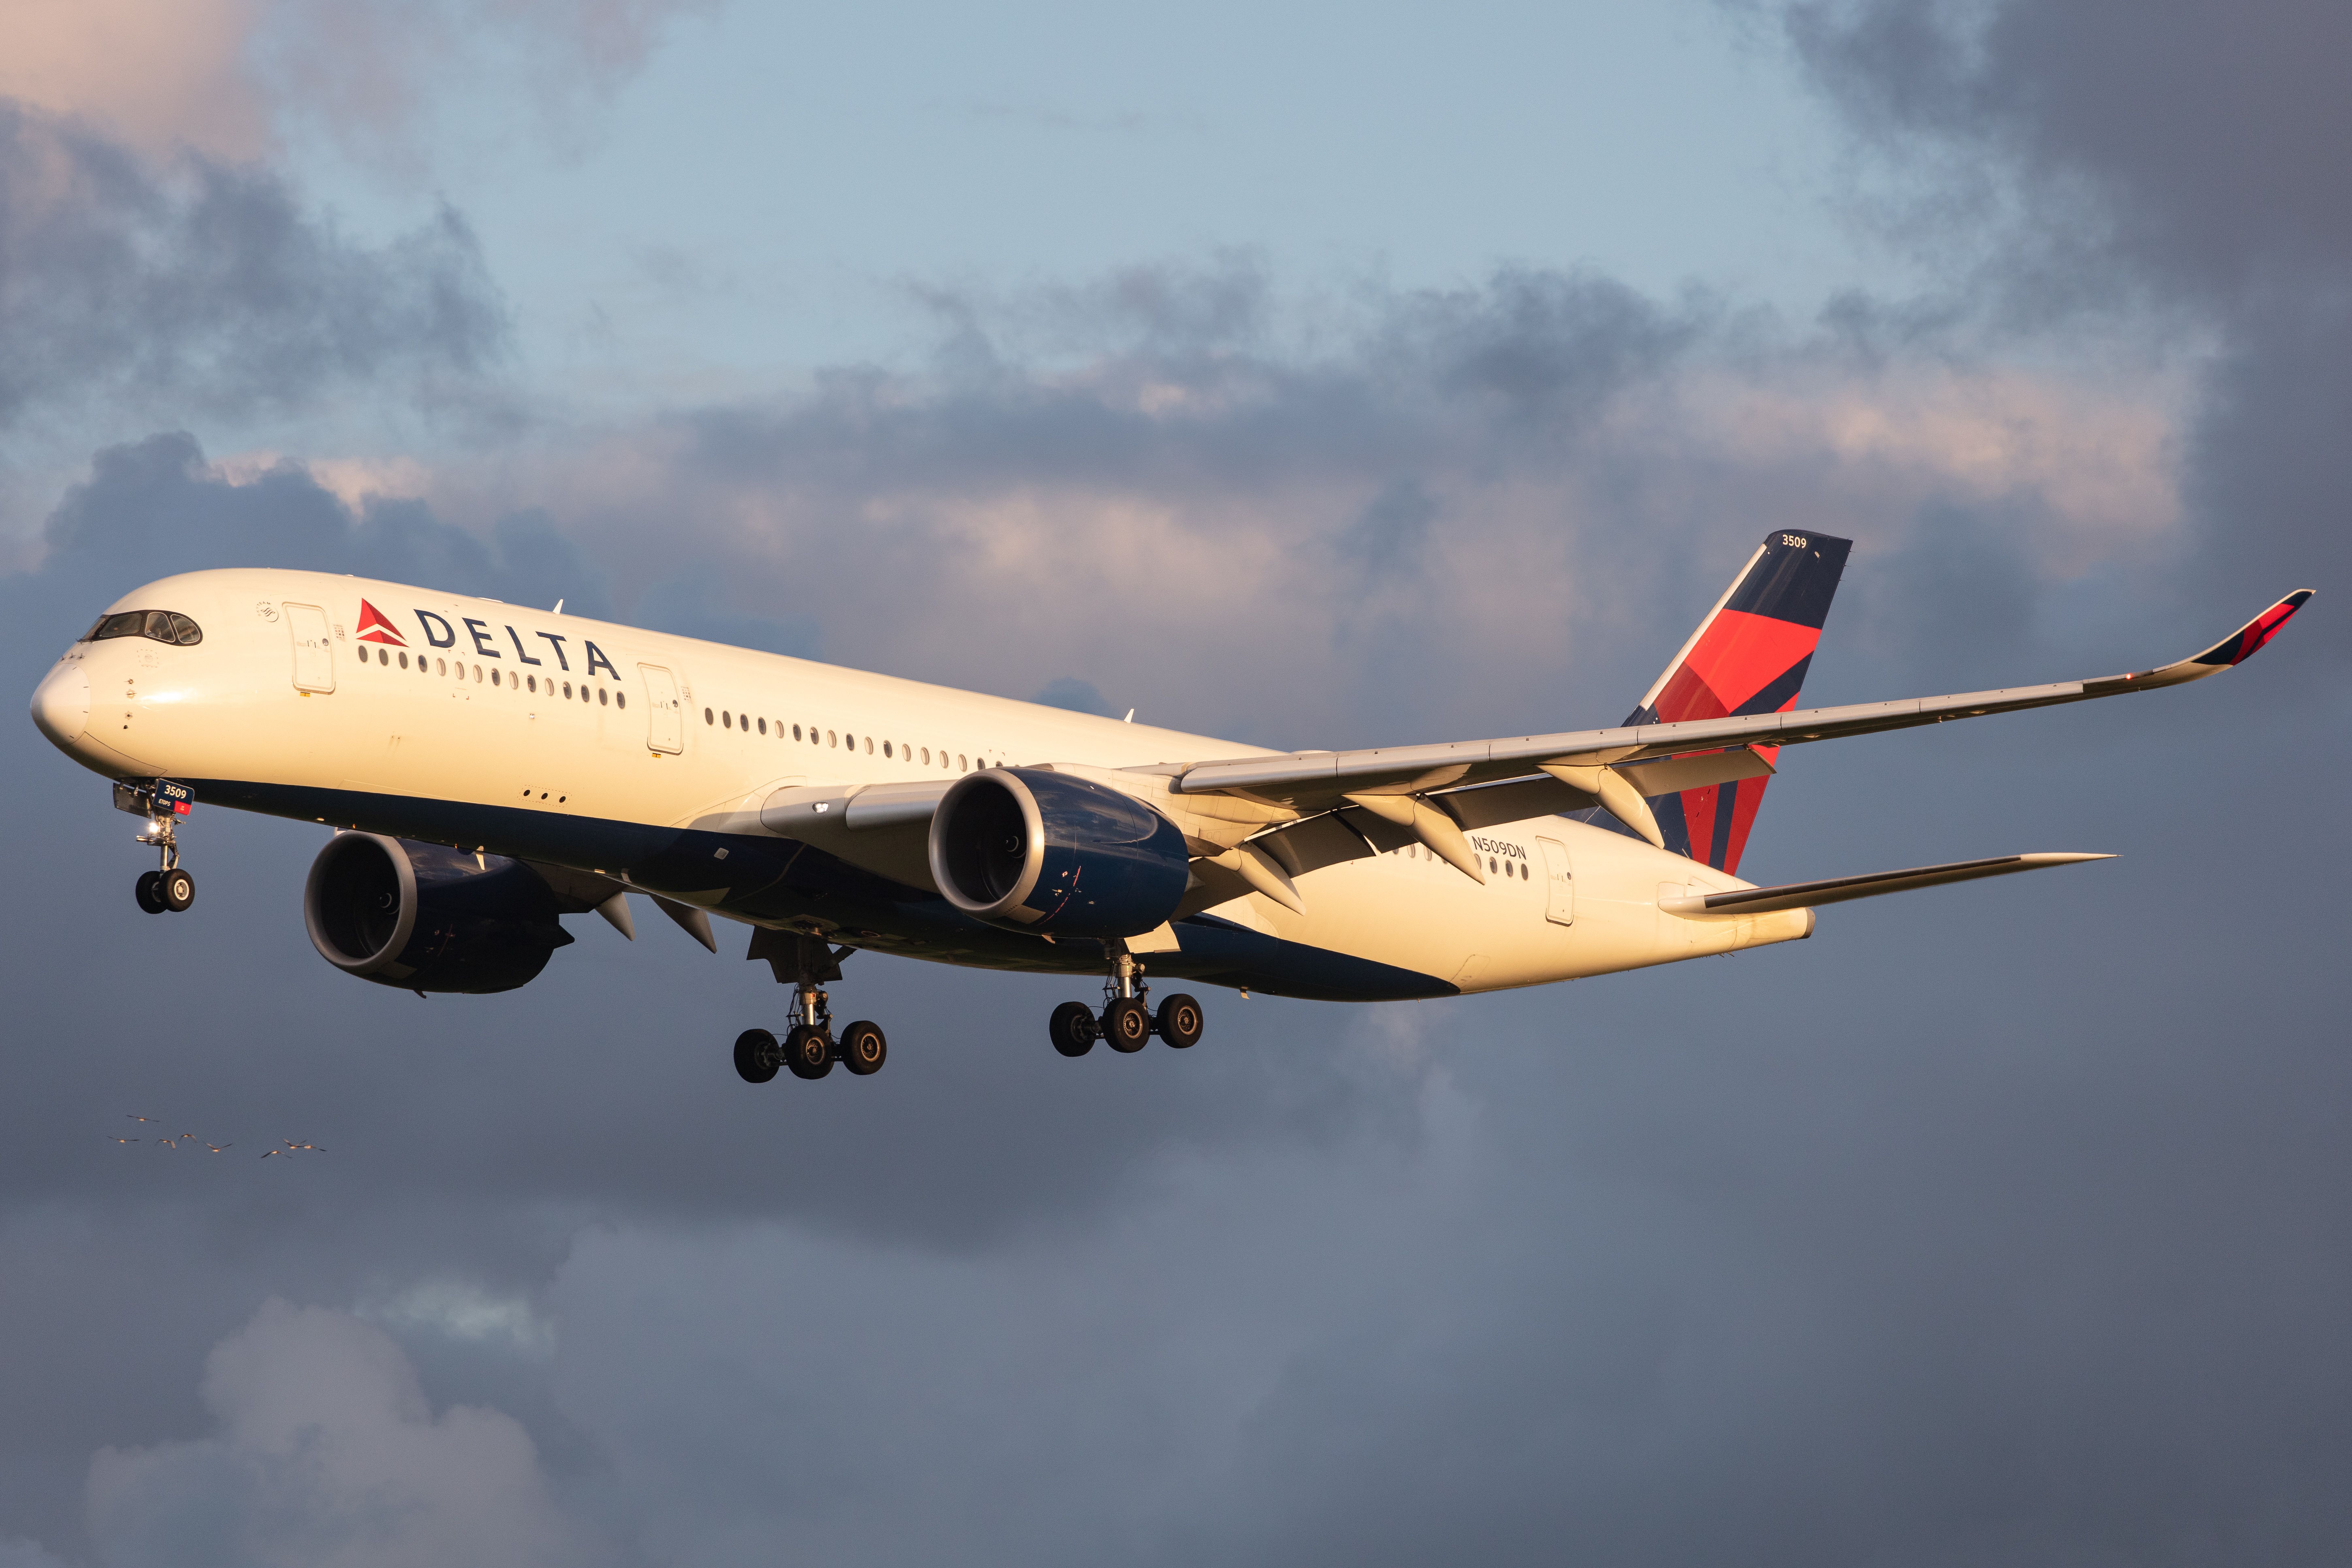
<path id="1" fill-rule="evenodd" d="M 1851 548 L 1851 538 L 1828 534 L 1769 534 L 1625 722 L 1722 719 L 1795 708 Z M 1757 748 L 1764 762 L 1776 752 L 1778 748 Z M 1668 849 L 1738 875 L 1740 851 L 1748 849 L 1748 830 L 1755 827 L 1769 783 L 1771 778 L 1740 778 L 1653 795 L 1649 809 Z"/>

